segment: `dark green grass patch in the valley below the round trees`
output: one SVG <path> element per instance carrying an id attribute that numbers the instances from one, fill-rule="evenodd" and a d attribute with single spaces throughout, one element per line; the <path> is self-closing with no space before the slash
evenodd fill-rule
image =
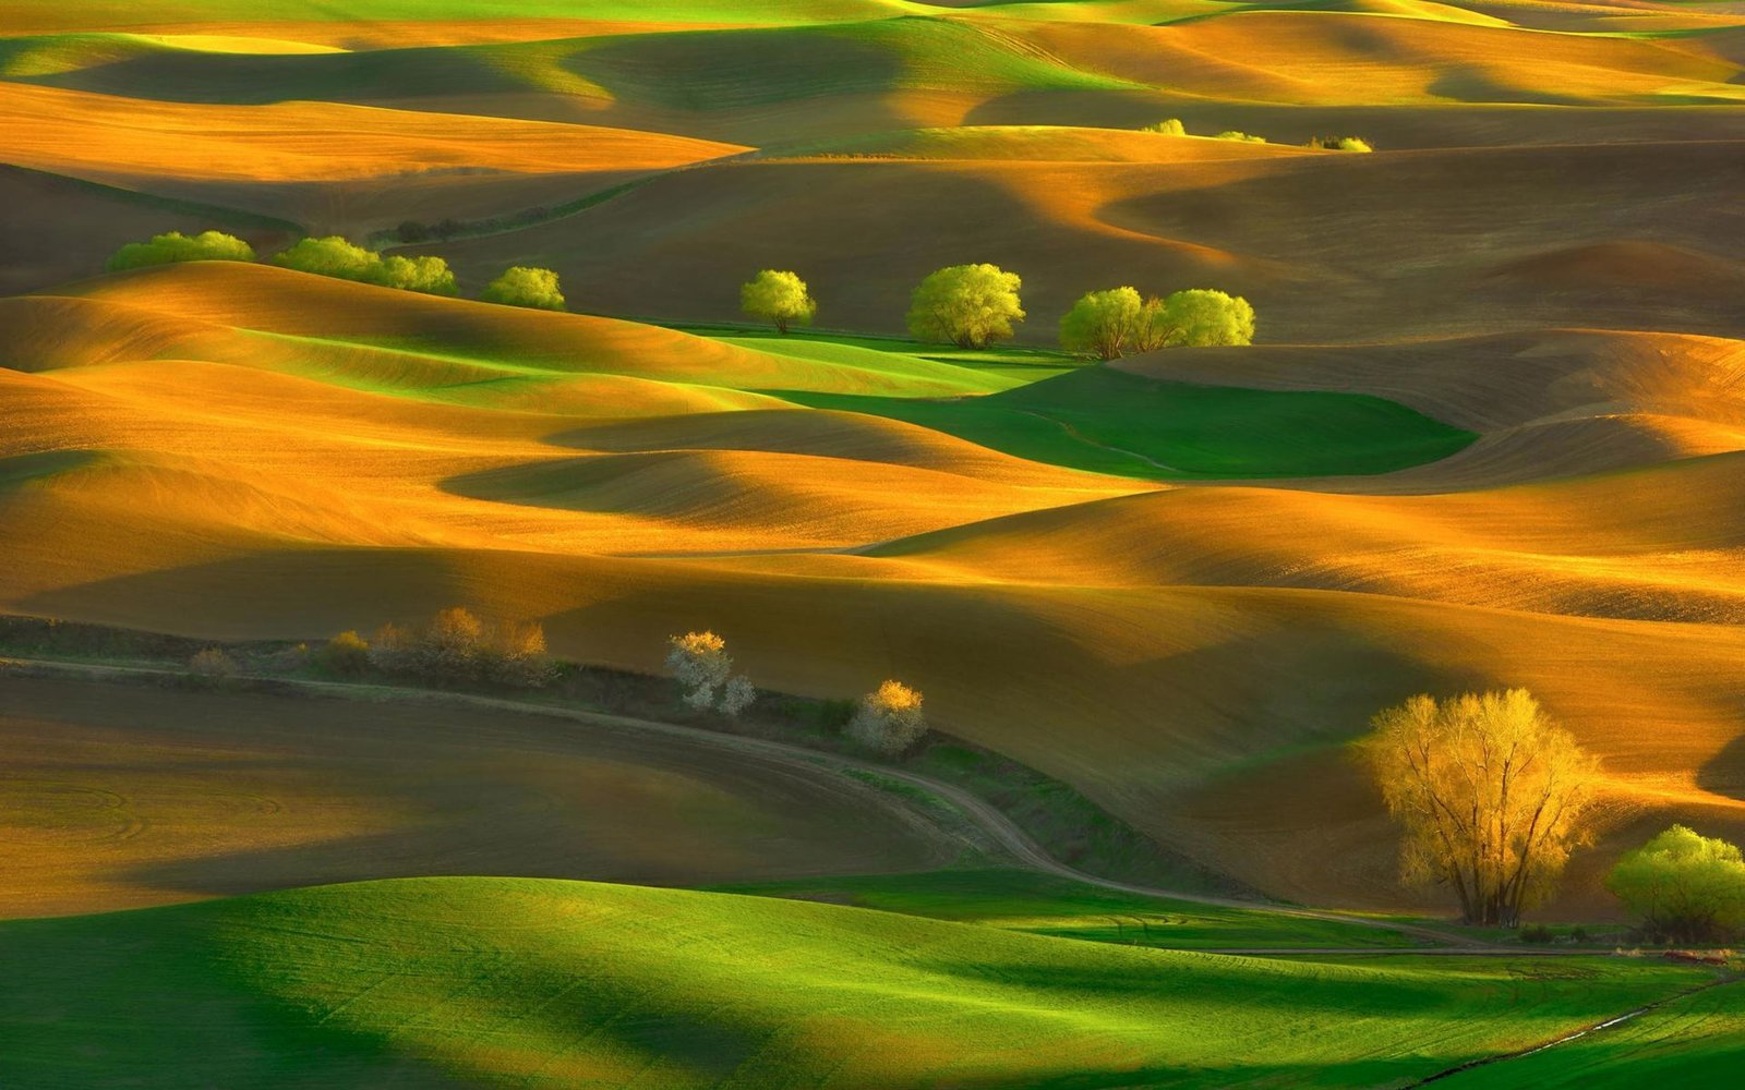
<path id="1" fill-rule="evenodd" d="M 1476 438 L 1382 398 L 1187 385 L 1113 368 L 963 399 L 766 392 L 907 420 L 1038 462 L 1150 480 L 1389 473 Z"/>

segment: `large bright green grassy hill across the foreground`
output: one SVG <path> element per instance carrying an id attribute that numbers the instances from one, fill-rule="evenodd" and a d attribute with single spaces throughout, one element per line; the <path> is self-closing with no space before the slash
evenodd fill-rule
<path id="1" fill-rule="evenodd" d="M 403 879 L 0 924 L 7 1087 L 1377 1087 L 1700 973 L 1249 959 L 719 893 Z"/>

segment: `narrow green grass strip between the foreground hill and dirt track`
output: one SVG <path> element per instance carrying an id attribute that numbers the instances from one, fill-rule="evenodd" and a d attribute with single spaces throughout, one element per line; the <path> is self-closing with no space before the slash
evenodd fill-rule
<path id="1" fill-rule="evenodd" d="M 1139 896 L 1017 869 L 787 879 L 722 889 L 1148 947 L 1288 950 L 1429 945 L 1401 931 Z"/>

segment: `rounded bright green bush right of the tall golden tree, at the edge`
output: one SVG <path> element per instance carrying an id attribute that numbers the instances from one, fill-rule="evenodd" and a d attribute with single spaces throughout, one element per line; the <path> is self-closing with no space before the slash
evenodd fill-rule
<path id="1" fill-rule="evenodd" d="M 1745 930 L 1745 860 L 1719 837 L 1673 825 L 1625 853 L 1605 888 L 1654 942 L 1714 942 Z"/>

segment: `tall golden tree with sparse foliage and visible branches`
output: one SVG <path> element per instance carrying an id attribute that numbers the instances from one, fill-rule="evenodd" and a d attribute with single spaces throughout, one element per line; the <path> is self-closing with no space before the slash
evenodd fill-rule
<path id="1" fill-rule="evenodd" d="M 1520 924 L 1584 842 L 1595 759 L 1523 689 L 1413 696 L 1373 726 L 1405 877 L 1452 886 L 1469 924 Z"/>

